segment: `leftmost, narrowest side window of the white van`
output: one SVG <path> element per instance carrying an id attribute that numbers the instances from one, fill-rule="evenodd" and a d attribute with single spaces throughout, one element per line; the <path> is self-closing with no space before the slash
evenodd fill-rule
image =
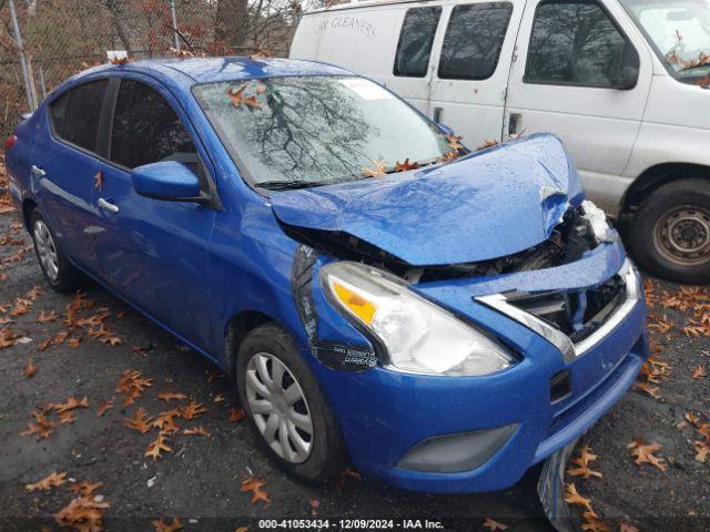
<path id="1" fill-rule="evenodd" d="M 442 16 L 442 8 L 415 8 L 407 10 L 402 23 L 395 75 L 424 78 L 429 65 L 432 44 Z"/>

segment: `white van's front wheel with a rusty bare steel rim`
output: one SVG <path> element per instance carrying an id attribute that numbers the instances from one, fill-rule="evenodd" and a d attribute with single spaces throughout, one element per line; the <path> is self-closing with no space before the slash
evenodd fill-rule
<path id="1" fill-rule="evenodd" d="M 710 283 L 710 183 L 668 183 L 641 204 L 631 225 L 636 260 L 650 274 L 678 283 Z"/>

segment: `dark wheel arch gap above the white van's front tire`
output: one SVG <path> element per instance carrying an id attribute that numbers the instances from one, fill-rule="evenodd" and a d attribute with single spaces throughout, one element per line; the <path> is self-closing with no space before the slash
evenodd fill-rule
<path id="1" fill-rule="evenodd" d="M 631 215 L 659 186 L 673 181 L 700 178 L 710 185 L 710 166 L 696 163 L 661 163 L 646 168 L 627 188 L 621 215 Z"/>

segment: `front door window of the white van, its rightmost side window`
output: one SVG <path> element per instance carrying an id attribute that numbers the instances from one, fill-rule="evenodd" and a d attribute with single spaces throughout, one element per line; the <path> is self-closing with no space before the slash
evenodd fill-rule
<path id="1" fill-rule="evenodd" d="M 527 83 L 613 86 L 627 54 L 626 38 L 597 3 L 540 3 L 535 13 Z"/>

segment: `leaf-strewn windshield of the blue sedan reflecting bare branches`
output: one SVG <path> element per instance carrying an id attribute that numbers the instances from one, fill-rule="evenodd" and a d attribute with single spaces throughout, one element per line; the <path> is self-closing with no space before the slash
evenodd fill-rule
<path id="1" fill-rule="evenodd" d="M 453 158 L 460 149 L 362 78 L 274 78 L 197 85 L 193 92 L 256 186 L 376 177 Z"/>

